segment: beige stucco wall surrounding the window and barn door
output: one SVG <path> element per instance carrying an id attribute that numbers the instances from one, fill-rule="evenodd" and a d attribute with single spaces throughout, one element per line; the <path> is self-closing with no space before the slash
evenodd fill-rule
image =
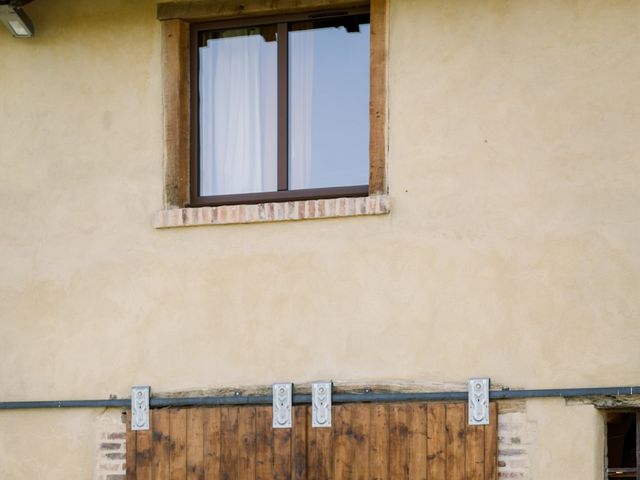
<path id="1" fill-rule="evenodd" d="M 154 1 L 40 1 L 34 39 L 0 30 L 1 400 L 319 378 L 639 383 L 640 3 L 391 4 L 392 213 L 296 223 L 151 228 Z M 549 435 L 583 420 L 549 412 Z M 46 442 L 92 418 L 39 415 L 0 424 Z M 553 445 L 562 478 L 590 478 Z M 49 478 L 87 478 L 83 448 L 59 455 L 84 473 Z M 16 465 L 0 476 L 35 478 Z"/>

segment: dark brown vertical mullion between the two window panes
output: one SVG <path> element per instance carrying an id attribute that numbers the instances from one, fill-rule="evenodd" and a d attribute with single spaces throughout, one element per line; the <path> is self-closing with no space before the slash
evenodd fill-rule
<path id="1" fill-rule="evenodd" d="M 289 26 L 278 24 L 278 191 L 289 190 Z"/>

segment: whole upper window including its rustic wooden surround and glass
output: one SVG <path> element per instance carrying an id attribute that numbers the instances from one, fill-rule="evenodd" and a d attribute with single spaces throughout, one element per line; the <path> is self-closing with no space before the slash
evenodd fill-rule
<path id="1" fill-rule="evenodd" d="M 286 15 L 275 16 L 281 12 Z M 201 2 L 197 8 L 193 2 L 163 2 L 158 4 L 158 19 L 162 25 L 164 114 L 161 212 L 169 215 L 185 207 L 356 196 L 360 198 L 348 202 L 358 204 L 356 211 L 364 211 L 360 200 L 367 198 L 363 197 L 371 201 L 384 197 L 384 208 L 371 211 L 388 213 L 388 0 L 270 0 L 249 4 L 229 0 Z M 311 57 L 306 52 L 312 50 L 312 43 Z M 368 54 L 364 53 L 365 43 L 370 47 Z M 340 47 L 337 57 L 328 55 L 331 47 L 336 51 L 336 45 Z M 222 62 L 232 49 L 246 51 L 234 67 L 235 74 L 244 72 L 246 76 L 239 84 L 230 80 L 229 70 L 199 68 L 201 62 Z M 351 62 L 354 57 L 357 61 Z M 347 68 L 349 75 L 340 74 L 344 73 L 341 68 Z M 367 68 L 368 73 L 363 71 Z M 200 75 L 205 73 L 208 86 L 201 94 Z M 219 95 L 216 89 L 224 90 L 225 82 L 226 94 Z M 283 93 L 279 95 L 280 90 Z M 348 101 L 335 106 L 335 100 L 341 97 Z M 367 97 L 367 110 L 363 112 Z M 209 118 L 200 122 L 201 102 L 207 98 L 215 103 L 205 103 L 202 115 Z M 249 109 L 251 104 L 254 107 Z M 249 115 L 241 117 L 244 111 Z M 216 120 L 216 115 L 234 119 L 225 124 Z M 230 130 L 233 122 L 245 125 L 234 129 L 236 138 L 225 134 L 225 128 Z M 225 142 L 218 142 L 219 137 Z M 225 151 L 233 150 L 232 142 L 245 150 L 236 155 L 250 161 L 234 164 L 226 177 L 214 175 L 216 168 L 231 165 Z M 205 150 L 202 162 L 201 149 Z M 250 174 L 242 178 L 242 171 Z M 231 180 L 220 186 L 218 178 Z M 199 215 L 195 211 L 175 213 L 176 218 L 186 218 L 187 214 Z M 314 218 L 322 218 L 322 214 Z"/>

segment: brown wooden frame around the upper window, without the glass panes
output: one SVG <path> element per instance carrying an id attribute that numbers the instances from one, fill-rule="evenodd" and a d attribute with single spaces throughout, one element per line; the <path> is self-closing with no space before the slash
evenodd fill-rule
<path id="1" fill-rule="evenodd" d="M 341 0 L 275 0 L 243 2 L 176 2 L 158 5 L 162 22 L 162 76 L 164 109 L 164 208 L 251 204 L 296 201 L 386 193 L 386 120 L 387 120 L 387 35 L 388 1 L 349 2 Z M 211 4 L 209 4 L 211 3 Z M 266 6 L 268 4 L 268 6 Z M 302 5 L 301 5 L 302 4 Z M 195 29 L 220 25 L 258 25 L 273 23 L 274 18 L 307 18 L 310 12 L 355 11 L 368 8 L 370 15 L 370 98 L 369 98 L 369 184 L 306 190 L 284 190 L 254 194 L 197 197 L 196 175 L 192 167 L 197 145 L 191 131 L 197 122 L 196 95 L 193 94 L 194 66 L 192 35 Z M 274 17 L 277 14 L 278 17 Z M 211 22 L 211 23 L 205 23 Z M 281 121 L 279 115 L 278 121 Z M 281 144 L 282 142 L 279 142 Z M 284 145 L 286 148 L 287 145 Z M 279 147 L 281 148 L 281 147 Z M 279 155 L 280 157 L 280 155 Z M 197 158 L 196 158 L 197 161 Z M 279 168 L 279 173 L 281 169 Z M 285 171 L 286 173 L 286 171 Z M 278 186 L 282 186 L 279 178 Z"/>

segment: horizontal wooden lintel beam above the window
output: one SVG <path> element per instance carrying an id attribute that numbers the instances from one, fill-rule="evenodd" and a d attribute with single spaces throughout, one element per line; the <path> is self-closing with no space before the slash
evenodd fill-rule
<path id="1" fill-rule="evenodd" d="M 158 4 L 158 20 L 202 21 L 295 13 L 309 9 L 353 8 L 368 5 L 362 0 L 190 0 Z"/>

